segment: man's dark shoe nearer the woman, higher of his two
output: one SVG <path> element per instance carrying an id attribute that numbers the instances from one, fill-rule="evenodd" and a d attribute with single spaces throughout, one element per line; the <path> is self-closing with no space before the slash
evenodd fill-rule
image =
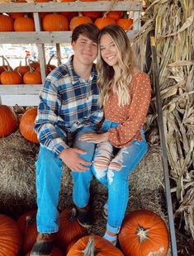
<path id="1" fill-rule="evenodd" d="M 89 229 L 92 226 L 92 214 L 89 205 L 84 208 L 77 207 L 77 219 L 84 228 Z"/>

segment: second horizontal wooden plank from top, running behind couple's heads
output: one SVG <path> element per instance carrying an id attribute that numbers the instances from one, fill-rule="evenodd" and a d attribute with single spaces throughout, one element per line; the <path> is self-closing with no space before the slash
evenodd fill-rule
<path id="1" fill-rule="evenodd" d="M 128 31 L 130 39 L 134 38 L 138 31 Z M 37 31 L 37 32 L 1 32 L 1 44 L 62 44 L 71 42 L 72 31 Z"/>

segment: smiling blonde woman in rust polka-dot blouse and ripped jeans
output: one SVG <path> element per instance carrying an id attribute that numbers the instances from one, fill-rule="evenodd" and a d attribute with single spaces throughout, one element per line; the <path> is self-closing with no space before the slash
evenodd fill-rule
<path id="1" fill-rule="evenodd" d="M 129 199 L 130 173 L 148 149 L 143 125 L 151 90 L 148 75 L 135 67 L 130 40 L 120 26 L 103 28 L 98 43 L 99 101 L 105 121 L 102 133 L 89 132 L 81 140 L 97 143 L 93 173 L 108 189 L 104 238 L 116 244 Z"/>

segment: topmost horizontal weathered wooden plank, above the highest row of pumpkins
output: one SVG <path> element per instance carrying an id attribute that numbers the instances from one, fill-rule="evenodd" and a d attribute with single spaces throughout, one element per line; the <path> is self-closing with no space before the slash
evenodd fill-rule
<path id="1" fill-rule="evenodd" d="M 140 11 L 142 1 L 0 3 L 0 12 Z"/>

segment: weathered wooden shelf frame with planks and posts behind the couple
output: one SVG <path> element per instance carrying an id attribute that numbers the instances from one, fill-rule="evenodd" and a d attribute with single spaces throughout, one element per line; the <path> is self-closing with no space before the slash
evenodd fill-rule
<path id="1" fill-rule="evenodd" d="M 39 51 L 42 81 L 45 81 L 45 44 L 71 42 L 72 31 L 41 31 L 40 12 L 87 12 L 87 11 L 128 11 L 133 12 L 133 30 L 128 31 L 130 39 L 140 30 L 142 1 L 98 2 L 38 2 L 38 3 L 0 3 L 0 12 L 33 12 L 35 31 L 0 32 L 1 44 L 36 44 Z M 13 106 L 38 105 L 40 84 L 0 85 L 0 104 Z"/>

